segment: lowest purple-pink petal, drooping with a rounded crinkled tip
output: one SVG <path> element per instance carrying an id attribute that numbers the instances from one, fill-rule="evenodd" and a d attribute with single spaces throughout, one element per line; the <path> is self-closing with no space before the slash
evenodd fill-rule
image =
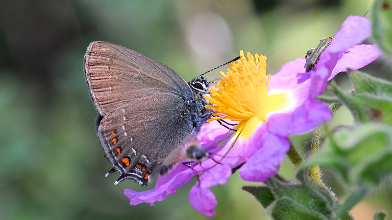
<path id="1" fill-rule="evenodd" d="M 214 207 L 217 205 L 217 200 L 209 188 L 217 184 L 225 184 L 229 176 L 231 176 L 231 168 L 226 165 L 218 165 L 208 170 L 189 192 L 189 202 L 192 207 L 203 215 L 215 215 Z"/>

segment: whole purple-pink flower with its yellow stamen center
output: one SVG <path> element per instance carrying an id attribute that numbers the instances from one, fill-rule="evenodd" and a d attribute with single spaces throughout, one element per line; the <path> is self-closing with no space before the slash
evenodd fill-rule
<path id="1" fill-rule="evenodd" d="M 368 19 L 348 17 L 315 69 L 308 73 L 304 69 L 305 59 L 299 58 L 282 66 L 276 74 L 267 75 L 267 57 L 247 53 L 245 59 L 241 51 L 237 64 L 232 63 L 231 69 L 221 72 L 224 78 L 210 89 L 211 105 L 207 108 L 214 110 L 216 117 L 198 134 L 201 146 L 219 164 L 207 159 L 193 169 L 178 165 L 167 176 L 159 176 L 152 190 L 126 189 L 124 194 L 130 204 L 153 205 L 175 194 L 175 189 L 196 173 L 204 174 L 190 191 L 189 201 L 200 213 L 212 216 L 217 201 L 209 188 L 225 184 L 232 168 L 243 164 L 239 174 L 248 181 L 262 182 L 274 176 L 290 149 L 288 136 L 308 132 L 332 117 L 328 106 L 316 99 L 325 91 L 327 81 L 348 68 L 366 66 L 381 55 L 375 45 L 357 45 L 369 36 Z M 237 122 L 237 132 L 228 132 L 216 119 Z"/>

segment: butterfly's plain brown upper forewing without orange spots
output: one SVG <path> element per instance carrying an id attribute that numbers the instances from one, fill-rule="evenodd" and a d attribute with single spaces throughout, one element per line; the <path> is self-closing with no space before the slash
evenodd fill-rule
<path id="1" fill-rule="evenodd" d="M 117 44 L 93 42 L 84 57 L 86 82 L 101 115 L 157 91 L 189 93 L 187 82 L 174 70 Z"/>

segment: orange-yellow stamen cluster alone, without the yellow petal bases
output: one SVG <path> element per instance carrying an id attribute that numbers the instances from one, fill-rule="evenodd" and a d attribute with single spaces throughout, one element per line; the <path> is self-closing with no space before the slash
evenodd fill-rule
<path id="1" fill-rule="evenodd" d="M 266 106 L 268 83 L 270 75 L 266 76 L 267 57 L 240 51 L 240 60 L 230 64 L 227 73 L 220 72 L 224 77 L 210 88 L 211 97 L 206 97 L 211 105 L 206 108 L 215 111 L 209 121 L 229 119 L 233 121 L 246 121 Z M 208 122 L 209 122 L 208 121 Z"/>

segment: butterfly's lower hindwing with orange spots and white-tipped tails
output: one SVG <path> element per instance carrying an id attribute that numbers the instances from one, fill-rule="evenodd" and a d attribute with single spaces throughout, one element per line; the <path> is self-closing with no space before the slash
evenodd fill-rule
<path id="1" fill-rule="evenodd" d="M 143 105 L 150 100 L 154 106 Z M 103 117 L 98 139 L 105 157 L 120 173 L 116 184 L 130 178 L 148 185 L 155 175 L 171 169 L 164 159 L 192 131 L 191 119 L 179 113 L 184 109 L 182 100 L 164 93 L 133 100 Z"/>

